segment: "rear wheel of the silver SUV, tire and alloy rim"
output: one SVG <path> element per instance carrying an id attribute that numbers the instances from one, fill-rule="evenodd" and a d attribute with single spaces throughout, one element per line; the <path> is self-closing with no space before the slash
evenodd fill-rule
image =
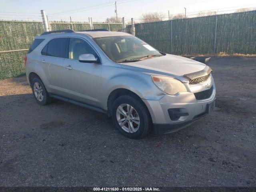
<path id="1" fill-rule="evenodd" d="M 43 82 L 38 77 L 32 80 L 32 92 L 36 102 L 40 105 L 47 105 L 52 101 Z"/>

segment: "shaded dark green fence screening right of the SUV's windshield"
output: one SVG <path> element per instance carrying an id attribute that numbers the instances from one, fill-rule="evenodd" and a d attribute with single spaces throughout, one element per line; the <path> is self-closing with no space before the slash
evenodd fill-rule
<path id="1" fill-rule="evenodd" d="M 176 55 L 256 54 L 256 11 L 140 23 L 135 30 L 138 38 Z"/>

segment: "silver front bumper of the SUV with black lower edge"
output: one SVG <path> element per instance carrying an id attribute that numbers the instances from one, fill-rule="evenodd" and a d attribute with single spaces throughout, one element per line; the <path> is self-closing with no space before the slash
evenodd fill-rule
<path id="1" fill-rule="evenodd" d="M 213 81 L 212 86 L 212 95 L 205 100 L 196 100 L 193 92 L 181 92 L 176 95 L 166 94 L 158 101 L 143 100 L 151 114 L 155 132 L 157 134 L 175 132 L 208 114 L 210 104 L 216 103 L 216 88 Z M 198 86 L 194 87 L 194 89 L 196 88 Z M 170 112 L 168 112 L 170 109 L 180 109 L 178 114 L 184 114 L 184 116 L 171 118 Z"/>

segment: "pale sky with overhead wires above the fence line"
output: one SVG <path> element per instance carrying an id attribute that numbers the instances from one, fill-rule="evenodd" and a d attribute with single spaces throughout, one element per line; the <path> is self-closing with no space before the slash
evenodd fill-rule
<path id="1" fill-rule="evenodd" d="M 256 7 L 256 0 L 116 0 L 118 17 L 126 22 L 134 18 L 139 22 L 141 15 L 148 12 L 162 12 L 168 19 L 175 14 L 188 17 L 200 11 L 218 11 L 219 14 L 234 12 L 239 8 Z M 106 18 L 116 16 L 115 1 L 111 0 L 0 0 L 0 20 L 39 20 L 40 10 L 48 15 L 48 20 L 104 22 Z"/>

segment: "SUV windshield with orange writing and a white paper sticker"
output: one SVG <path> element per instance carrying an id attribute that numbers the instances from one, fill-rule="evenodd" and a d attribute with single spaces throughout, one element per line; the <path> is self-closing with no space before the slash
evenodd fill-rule
<path id="1" fill-rule="evenodd" d="M 94 41 L 114 62 L 136 62 L 162 54 L 134 36 L 97 37 Z"/>

